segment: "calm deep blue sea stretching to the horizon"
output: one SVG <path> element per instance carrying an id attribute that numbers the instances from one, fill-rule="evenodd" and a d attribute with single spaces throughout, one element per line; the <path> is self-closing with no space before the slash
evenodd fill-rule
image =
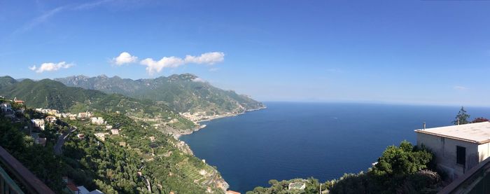
<path id="1" fill-rule="evenodd" d="M 415 129 L 451 125 L 456 106 L 269 102 L 267 109 L 205 122 L 181 137 L 218 167 L 231 190 L 245 193 L 270 179 L 326 181 L 360 172 L 386 146 L 416 142 Z M 467 107 L 472 118 L 490 108 Z"/>

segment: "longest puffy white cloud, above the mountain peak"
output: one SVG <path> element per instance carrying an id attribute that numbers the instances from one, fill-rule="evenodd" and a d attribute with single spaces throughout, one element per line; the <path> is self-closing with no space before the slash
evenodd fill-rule
<path id="1" fill-rule="evenodd" d="M 198 57 L 186 55 L 185 59 L 181 57 L 163 57 L 159 61 L 155 61 L 152 58 L 146 58 L 139 62 L 146 66 L 146 72 L 153 75 L 155 73 L 160 73 L 164 68 L 176 68 L 183 64 L 195 63 L 195 64 L 215 64 L 217 62 L 223 62 L 225 57 L 224 53 L 212 52 L 204 53 Z"/>

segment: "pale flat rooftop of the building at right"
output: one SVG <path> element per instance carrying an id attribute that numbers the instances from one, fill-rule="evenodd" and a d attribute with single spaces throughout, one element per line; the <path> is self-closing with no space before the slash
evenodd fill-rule
<path id="1" fill-rule="evenodd" d="M 490 122 L 426 128 L 425 130 L 415 130 L 415 132 L 469 141 L 475 144 L 486 144 L 490 142 Z"/>

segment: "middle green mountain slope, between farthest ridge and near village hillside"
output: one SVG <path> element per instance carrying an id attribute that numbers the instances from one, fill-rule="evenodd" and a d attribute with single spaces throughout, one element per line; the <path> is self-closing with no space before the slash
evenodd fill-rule
<path id="1" fill-rule="evenodd" d="M 151 118 L 166 127 L 192 130 L 195 124 L 179 116 L 166 104 L 151 100 L 134 99 L 119 94 L 106 94 L 98 90 L 68 87 L 63 83 L 43 79 L 41 81 L 10 80 L 0 77 L 0 95 L 17 97 L 33 108 L 57 109 L 63 112 L 111 111 L 124 113 L 134 118 Z M 174 122 L 170 122 L 174 120 Z M 178 122 L 176 122 L 177 120 Z"/>

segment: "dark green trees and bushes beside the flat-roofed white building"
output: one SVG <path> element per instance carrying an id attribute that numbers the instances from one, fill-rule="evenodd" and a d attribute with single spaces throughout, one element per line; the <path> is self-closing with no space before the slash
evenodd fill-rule
<path id="1" fill-rule="evenodd" d="M 402 141 L 400 146 L 388 146 L 376 165 L 367 172 L 344 174 L 340 179 L 322 183 L 321 190 L 330 193 L 437 193 L 441 177 L 435 172 L 433 155 L 423 148 Z M 269 181 L 270 188 L 257 187 L 253 193 L 318 193 L 318 180 L 304 180 L 304 190 L 288 190 L 288 183 L 298 181 Z"/>

